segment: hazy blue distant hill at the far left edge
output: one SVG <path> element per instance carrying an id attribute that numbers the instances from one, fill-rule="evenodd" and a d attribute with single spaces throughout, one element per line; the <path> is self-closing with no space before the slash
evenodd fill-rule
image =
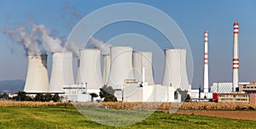
<path id="1" fill-rule="evenodd" d="M 0 93 L 16 93 L 23 90 L 25 81 L 0 81 Z"/>

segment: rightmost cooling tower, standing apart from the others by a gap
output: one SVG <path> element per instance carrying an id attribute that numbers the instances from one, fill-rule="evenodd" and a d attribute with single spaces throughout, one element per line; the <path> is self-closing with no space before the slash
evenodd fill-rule
<path id="1" fill-rule="evenodd" d="M 163 86 L 189 90 L 189 81 L 186 70 L 186 50 L 166 49 L 166 67 L 162 81 Z"/>

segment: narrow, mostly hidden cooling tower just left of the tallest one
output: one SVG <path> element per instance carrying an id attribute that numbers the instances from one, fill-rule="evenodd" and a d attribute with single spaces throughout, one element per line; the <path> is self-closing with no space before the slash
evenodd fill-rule
<path id="1" fill-rule="evenodd" d="M 104 61 L 104 67 L 103 67 L 103 82 L 105 85 L 108 84 L 108 76 L 109 76 L 109 70 L 110 70 L 110 54 L 103 54 L 103 61 Z"/>

